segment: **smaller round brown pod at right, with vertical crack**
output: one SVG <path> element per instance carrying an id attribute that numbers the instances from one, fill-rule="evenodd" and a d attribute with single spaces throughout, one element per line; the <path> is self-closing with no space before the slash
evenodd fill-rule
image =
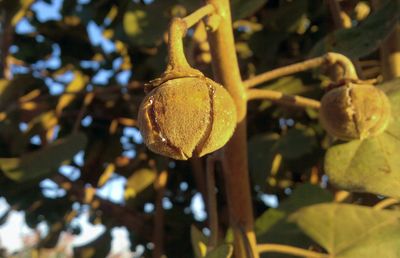
<path id="1" fill-rule="evenodd" d="M 319 113 L 325 130 L 345 141 L 382 133 L 390 117 L 386 94 L 373 85 L 356 83 L 347 83 L 326 93 Z"/>

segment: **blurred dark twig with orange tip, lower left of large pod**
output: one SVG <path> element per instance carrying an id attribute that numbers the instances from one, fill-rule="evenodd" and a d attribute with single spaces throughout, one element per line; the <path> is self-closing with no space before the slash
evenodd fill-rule
<path id="1" fill-rule="evenodd" d="M 158 175 L 154 188 L 156 190 L 154 230 L 153 230 L 153 258 L 160 258 L 164 254 L 164 208 L 162 200 L 165 195 L 165 186 L 167 185 L 168 171 L 163 170 Z"/>

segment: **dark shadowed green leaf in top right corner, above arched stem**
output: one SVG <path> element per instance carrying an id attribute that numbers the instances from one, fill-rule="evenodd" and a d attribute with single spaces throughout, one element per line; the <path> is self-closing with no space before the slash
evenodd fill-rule
<path id="1" fill-rule="evenodd" d="M 319 41 L 310 56 L 320 56 L 326 52 L 338 52 L 349 58 L 360 58 L 375 51 L 382 40 L 399 21 L 400 3 L 398 0 L 387 4 L 371 14 L 359 26 L 341 29 Z"/>

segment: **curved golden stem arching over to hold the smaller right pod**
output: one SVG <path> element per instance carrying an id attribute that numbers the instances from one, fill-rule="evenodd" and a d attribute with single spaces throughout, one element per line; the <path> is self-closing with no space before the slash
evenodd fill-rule
<path id="1" fill-rule="evenodd" d="M 322 65 L 339 64 L 344 68 L 343 77 L 346 79 L 358 80 L 356 69 L 353 63 L 346 56 L 338 53 L 327 53 L 324 56 L 312 58 L 300 63 L 277 68 L 259 75 L 254 76 L 246 81 L 244 85 L 248 88 L 254 87 L 258 84 L 277 79 L 282 76 L 304 72 Z"/>

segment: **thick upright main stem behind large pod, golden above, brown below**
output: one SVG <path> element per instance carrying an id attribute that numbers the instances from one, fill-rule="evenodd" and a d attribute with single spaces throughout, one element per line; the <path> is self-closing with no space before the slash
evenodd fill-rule
<path id="1" fill-rule="evenodd" d="M 206 2 L 214 5 L 219 16 L 217 30 L 208 34 L 214 76 L 233 97 L 238 117 L 236 131 L 224 147 L 224 180 L 230 224 L 234 234 L 234 256 L 241 258 L 251 255 L 257 258 L 259 255 L 253 231 L 253 207 L 247 164 L 247 96 L 236 57 L 230 5 L 228 0 Z"/>

